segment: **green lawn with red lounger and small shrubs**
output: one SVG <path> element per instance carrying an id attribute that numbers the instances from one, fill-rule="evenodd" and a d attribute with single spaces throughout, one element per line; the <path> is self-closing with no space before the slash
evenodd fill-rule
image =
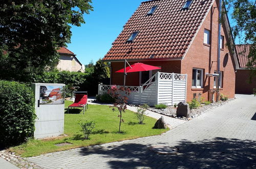
<path id="1" fill-rule="evenodd" d="M 68 105 L 71 103 L 71 101 L 65 101 L 66 112 Z M 151 117 L 145 118 L 145 124 L 138 124 L 134 113 L 126 110 L 126 113 L 123 114 L 124 122 L 121 124 L 121 131 L 123 133 L 119 134 L 119 113 L 117 111 L 113 112 L 112 109 L 106 105 L 89 105 L 89 109 L 84 115 L 82 111 L 80 113 L 78 111 L 72 111 L 70 113 L 74 114 L 65 114 L 64 133 L 68 136 L 63 136 L 58 139 L 29 140 L 27 143 L 11 147 L 9 150 L 22 157 L 31 157 L 76 147 L 159 135 L 169 130 L 152 129 L 156 119 Z M 78 124 L 80 120 L 94 120 L 96 122 L 95 132 L 90 135 L 90 140 L 82 139 L 82 131 Z M 54 145 L 66 142 L 72 144 L 61 147 Z"/>

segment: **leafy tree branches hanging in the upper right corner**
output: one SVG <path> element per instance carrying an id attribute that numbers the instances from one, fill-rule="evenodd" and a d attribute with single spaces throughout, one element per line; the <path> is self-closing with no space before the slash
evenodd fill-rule
<path id="1" fill-rule="evenodd" d="M 225 4 L 232 10 L 231 17 L 236 25 L 232 27 L 234 38 L 244 44 L 251 44 L 247 67 L 251 78 L 256 76 L 256 2 L 253 0 L 226 0 Z"/>

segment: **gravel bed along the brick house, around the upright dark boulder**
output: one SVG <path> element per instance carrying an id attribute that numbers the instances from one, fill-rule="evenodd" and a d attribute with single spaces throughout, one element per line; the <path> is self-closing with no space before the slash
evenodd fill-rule
<path id="1" fill-rule="evenodd" d="M 190 120 L 192 118 L 195 118 L 199 116 L 200 114 L 203 114 L 205 112 L 208 112 L 211 109 L 215 109 L 223 104 L 226 104 L 234 99 L 228 99 L 227 101 L 219 101 L 215 103 L 210 103 L 208 105 L 201 104 L 201 106 L 197 109 L 192 109 L 190 110 L 190 118 L 185 118 L 185 117 L 177 117 L 176 116 L 176 108 L 173 106 L 168 106 L 166 109 L 155 109 L 154 107 L 148 108 L 148 110 L 159 113 L 165 116 L 173 117 L 173 118 L 178 118 L 178 119 L 183 119 L 183 120 Z"/>

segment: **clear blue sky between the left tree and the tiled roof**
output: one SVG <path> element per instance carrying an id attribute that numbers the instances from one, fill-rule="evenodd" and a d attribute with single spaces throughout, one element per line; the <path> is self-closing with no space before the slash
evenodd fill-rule
<path id="1" fill-rule="evenodd" d="M 67 44 L 68 49 L 74 52 L 84 65 L 89 64 L 91 60 L 95 63 L 99 58 L 103 58 L 124 24 L 143 1 L 145 0 L 93 0 L 94 11 L 84 15 L 86 24 L 72 27 L 73 35 L 71 44 Z M 230 16 L 229 21 L 232 22 Z"/>

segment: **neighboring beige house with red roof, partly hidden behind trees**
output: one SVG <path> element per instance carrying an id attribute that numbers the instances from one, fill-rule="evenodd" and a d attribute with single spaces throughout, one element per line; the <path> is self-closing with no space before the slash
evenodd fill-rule
<path id="1" fill-rule="evenodd" d="M 57 69 L 67 70 L 72 72 L 84 72 L 84 68 L 80 61 L 76 58 L 76 55 L 65 47 L 61 47 L 57 50 L 60 55 L 59 64 Z"/>

